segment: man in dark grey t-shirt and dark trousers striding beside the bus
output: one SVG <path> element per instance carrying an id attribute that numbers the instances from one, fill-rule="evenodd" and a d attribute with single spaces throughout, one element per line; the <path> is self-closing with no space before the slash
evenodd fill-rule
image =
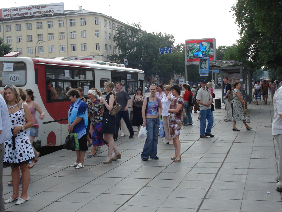
<path id="1" fill-rule="evenodd" d="M 130 123 L 129 120 L 129 113 L 128 113 L 128 106 L 130 104 L 130 97 L 127 94 L 127 92 L 125 92 L 124 90 L 122 90 L 122 83 L 121 82 L 117 82 L 116 83 L 116 101 L 118 103 L 120 103 L 120 105 L 122 106 L 122 108 L 120 109 L 120 111 L 116 114 L 116 133 L 113 135 L 114 140 L 116 141 L 118 138 L 118 128 L 120 126 L 120 120 L 123 118 L 124 122 L 129 130 L 129 138 L 133 138 L 134 135 L 134 130 L 133 127 Z"/>

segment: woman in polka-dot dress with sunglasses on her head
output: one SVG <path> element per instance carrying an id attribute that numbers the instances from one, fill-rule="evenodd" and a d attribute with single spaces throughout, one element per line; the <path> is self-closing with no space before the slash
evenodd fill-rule
<path id="1" fill-rule="evenodd" d="M 3 159 L 3 162 L 11 165 L 13 181 L 13 194 L 5 203 L 17 200 L 16 204 L 19 205 L 29 199 L 27 195 L 30 181 L 28 162 L 34 161 L 35 155 L 26 129 L 33 126 L 33 120 L 27 104 L 22 104 L 23 101 L 16 86 L 5 86 L 4 99 L 8 106 L 13 134 L 13 137 L 5 142 L 6 149 Z M 20 170 L 23 184 L 21 195 L 19 195 Z"/>

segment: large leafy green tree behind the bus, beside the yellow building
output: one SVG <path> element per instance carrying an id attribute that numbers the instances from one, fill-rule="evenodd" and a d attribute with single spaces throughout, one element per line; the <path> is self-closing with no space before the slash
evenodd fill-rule
<path id="1" fill-rule="evenodd" d="M 110 60 L 123 63 L 125 55 L 128 55 L 128 67 L 141 69 L 146 77 L 153 76 L 154 62 L 158 60 L 159 48 L 173 46 L 173 34 L 147 33 L 142 31 L 139 23 L 133 23 L 132 26 L 125 25 L 116 29 L 114 42 L 116 48 L 122 51 L 122 54 L 110 56 Z"/>

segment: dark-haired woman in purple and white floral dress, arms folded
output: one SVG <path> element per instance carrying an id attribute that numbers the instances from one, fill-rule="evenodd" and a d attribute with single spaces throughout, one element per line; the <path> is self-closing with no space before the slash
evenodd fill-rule
<path id="1" fill-rule="evenodd" d="M 178 85 L 173 85 L 170 87 L 171 94 L 175 96 L 170 103 L 168 109 L 169 116 L 169 128 L 170 136 L 173 138 L 173 145 L 175 149 L 175 154 L 171 157 L 174 162 L 179 162 L 181 160 L 180 155 L 180 140 L 179 134 L 182 126 L 182 112 L 184 108 L 184 98 L 180 96 L 180 88 Z"/>

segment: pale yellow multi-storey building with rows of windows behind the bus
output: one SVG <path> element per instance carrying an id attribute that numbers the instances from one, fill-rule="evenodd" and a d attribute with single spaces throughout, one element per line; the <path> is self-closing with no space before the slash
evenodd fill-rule
<path id="1" fill-rule="evenodd" d="M 102 13 L 80 9 L 0 21 L 0 37 L 22 53 L 19 57 L 109 61 L 121 53 L 113 38 L 125 24 Z"/>

